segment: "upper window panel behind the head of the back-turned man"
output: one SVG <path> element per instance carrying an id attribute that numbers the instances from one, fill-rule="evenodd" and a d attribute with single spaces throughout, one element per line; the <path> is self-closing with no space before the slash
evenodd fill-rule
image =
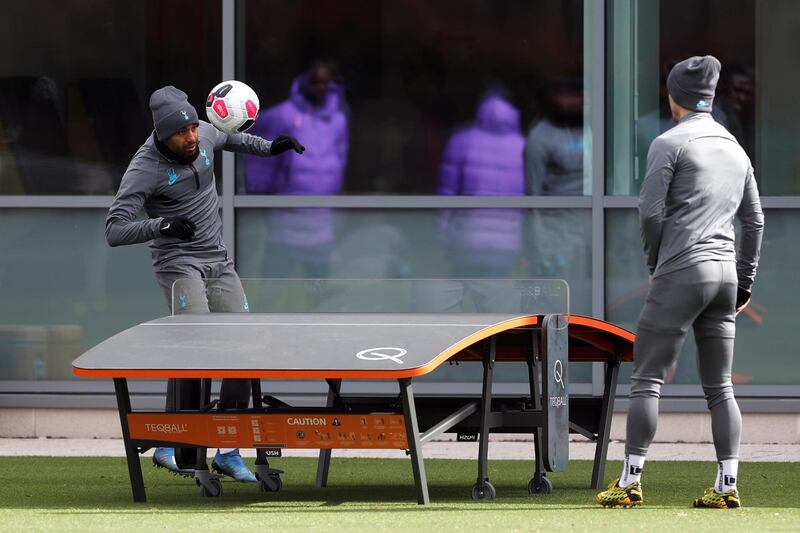
<path id="1" fill-rule="evenodd" d="M 692 13 L 686 17 L 686 13 Z M 665 82 L 692 55 L 722 62 L 712 115 L 750 156 L 764 195 L 800 194 L 800 4 L 792 0 L 613 2 L 608 128 L 610 194 L 637 195 L 652 140 L 674 125 Z"/>

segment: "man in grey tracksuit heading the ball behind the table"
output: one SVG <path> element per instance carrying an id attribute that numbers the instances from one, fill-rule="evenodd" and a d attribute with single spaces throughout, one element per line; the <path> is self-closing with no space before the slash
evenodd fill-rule
<path id="1" fill-rule="evenodd" d="M 246 312 L 241 281 L 222 242 L 214 152 L 272 156 L 289 149 L 302 153 L 304 148 L 291 137 L 268 141 L 223 133 L 200 121 L 186 94 L 172 86 L 152 94 L 150 109 L 155 130 L 122 177 L 106 218 L 106 240 L 111 246 L 152 241 L 153 269 L 171 311 Z M 147 218 L 139 219 L 142 209 Z M 221 408 L 246 408 L 249 396 L 249 381 L 222 381 Z M 168 410 L 197 408 L 199 401 L 199 380 L 169 380 Z M 238 450 L 221 452 L 224 456 L 218 452 L 215 467 L 240 480 L 255 480 Z M 191 453 L 183 455 L 178 463 L 194 462 Z M 157 449 L 154 461 L 180 470 L 171 448 Z"/>

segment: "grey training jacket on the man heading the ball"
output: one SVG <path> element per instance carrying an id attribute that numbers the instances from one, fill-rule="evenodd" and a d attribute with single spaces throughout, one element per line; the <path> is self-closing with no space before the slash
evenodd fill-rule
<path id="1" fill-rule="evenodd" d="M 270 155 L 272 143 L 255 135 L 228 135 L 202 120 L 198 134 L 200 153 L 189 164 L 165 157 L 150 135 L 133 156 L 108 210 L 108 244 L 119 246 L 152 240 L 150 248 L 156 270 L 171 261 L 205 263 L 227 256 L 214 183 L 214 151 Z M 142 208 L 149 218 L 137 220 Z M 194 240 L 161 235 L 158 228 L 162 220 L 174 216 L 184 216 L 195 223 Z"/>

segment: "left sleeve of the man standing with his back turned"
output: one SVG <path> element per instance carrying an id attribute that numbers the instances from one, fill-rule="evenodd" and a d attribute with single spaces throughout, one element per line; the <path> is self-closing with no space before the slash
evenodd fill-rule
<path id="1" fill-rule="evenodd" d="M 664 205 L 675 175 L 675 154 L 670 146 L 656 138 L 647 152 L 647 173 L 639 193 L 639 223 L 650 274 L 658 264 L 658 250 L 664 223 Z"/>

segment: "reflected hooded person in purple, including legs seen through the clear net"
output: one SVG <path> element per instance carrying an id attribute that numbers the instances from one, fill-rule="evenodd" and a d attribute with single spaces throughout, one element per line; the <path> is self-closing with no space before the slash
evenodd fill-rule
<path id="1" fill-rule="evenodd" d="M 519 111 L 500 92 L 487 93 L 475 121 L 450 137 L 437 191 L 447 196 L 519 196 L 525 191 Z M 463 310 L 469 297 L 478 312 L 508 312 L 509 297 L 497 285 L 474 278 L 513 277 L 522 240 L 519 209 L 441 211 L 441 248 L 453 279 L 414 295 L 417 312 Z M 469 280 L 469 281 L 468 281 Z M 517 301 L 519 295 L 517 294 Z"/>

